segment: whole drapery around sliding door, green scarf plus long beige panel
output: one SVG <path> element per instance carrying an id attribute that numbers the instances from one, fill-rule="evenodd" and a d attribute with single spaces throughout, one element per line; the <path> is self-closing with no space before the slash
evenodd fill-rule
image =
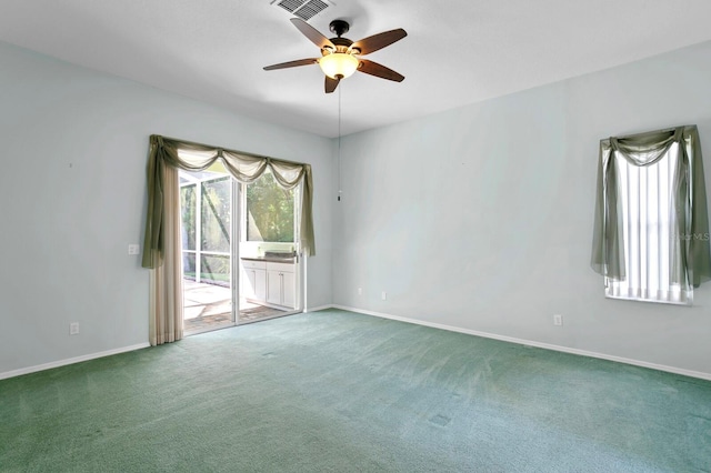
<path id="1" fill-rule="evenodd" d="M 143 268 L 150 269 L 149 339 L 151 345 L 182 339 L 182 274 L 180 240 L 180 184 L 178 170 L 203 171 L 222 160 L 228 172 L 242 183 L 254 182 L 270 169 L 274 180 L 301 191 L 300 243 L 309 256 L 313 241 L 311 165 L 260 157 L 222 148 L 150 137 L 148 155 L 148 212 L 143 239 Z"/>

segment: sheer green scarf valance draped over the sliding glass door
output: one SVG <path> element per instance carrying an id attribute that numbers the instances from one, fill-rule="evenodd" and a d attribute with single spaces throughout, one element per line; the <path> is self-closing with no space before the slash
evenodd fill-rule
<path id="1" fill-rule="evenodd" d="M 234 179 L 246 184 L 254 182 L 267 169 L 272 171 L 279 185 L 287 190 L 296 188 L 303 181 L 300 212 L 301 249 L 309 256 L 316 255 L 312 217 L 313 178 L 310 164 L 152 134 L 148 155 L 148 212 L 143 240 L 143 268 L 154 269 L 163 262 L 163 232 L 166 231 L 163 229 L 166 185 L 163 169 L 171 167 L 186 171 L 203 171 L 218 159 Z"/>

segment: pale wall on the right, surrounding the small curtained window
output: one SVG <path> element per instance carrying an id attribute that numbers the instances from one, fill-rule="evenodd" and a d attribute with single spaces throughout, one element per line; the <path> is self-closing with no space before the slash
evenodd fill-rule
<path id="1" fill-rule="evenodd" d="M 711 189 L 709 84 L 704 43 L 346 137 L 334 303 L 711 376 L 711 283 L 612 301 L 589 265 L 599 140 L 695 123 Z"/>

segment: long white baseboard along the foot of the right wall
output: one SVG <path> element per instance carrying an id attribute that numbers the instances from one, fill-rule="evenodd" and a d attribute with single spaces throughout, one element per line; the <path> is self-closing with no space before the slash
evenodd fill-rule
<path id="1" fill-rule="evenodd" d="M 665 372 L 669 372 L 669 373 L 681 374 L 681 375 L 684 375 L 684 376 L 699 378 L 701 380 L 711 381 L 711 373 L 704 373 L 704 372 L 701 372 L 701 371 L 684 370 L 684 369 L 681 369 L 681 368 L 667 366 L 667 365 L 657 364 L 657 363 L 649 363 L 649 362 L 645 362 L 645 361 L 632 360 L 632 359 L 622 358 L 622 356 L 614 356 L 614 355 L 609 355 L 609 354 L 604 354 L 604 353 L 589 352 L 589 351 L 585 351 L 585 350 L 571 349 L 571 348 L 568 348 L 568 346 L 553 345 L 553 344 L 550 344 L 550 343 L 534 342 L 532 340 L 517 339 L 517 338 L 513 338 L 513 336 L 505 336 L 505 335 L 497 335 L 495 333 L 480 332 L 480 331 L 477 331 L 477 330 L 462 329 L 462 328 L 459 328 L 459 326 L 444 325 L 444 324 L 433 323 L 433 322 L 424 322 L 424 321 L 417 320 L 417 319 L 408 319 L 408 318 L 398 316 L 398 315 L 390 315 L 390 314 L 385 314 L 385 313 L 381 313 L 381 312 L 365 311 L 365 310 L 362 310 L 362 309 L 349 308 L 349 306 L 344 306 L 344 305 L 336 305 L 334 304 L 334 305 L 331 305 L 331 308 L 332 309 L 341 309 L 341 310 L 350 311 L 350 312 L 356 312 L 356 313 L 363 314 L 363 315 L 372 315 L 372 316 L 378 316 L 378 318 L 381 318 L 381 319 L 390 319 L 390 320 L 397 320 L 397 321 L 400 321 L 400 322 L 414 323 L 417 325 L 431 326 L 433 329 L 448 330 L 450 332 L 467 333 L 469 335 L 483 336 L 485 339 L 500 340 L 502 342 L 511 342 L 511 343 L 518 343 L 520 345 L 537 346 L 539 349 L 553 350 L 553 351 L 557 351 L 557 352 L 571 353 L 571 354 L 577 354 L 577 355 L 581 355 L 581 356 L 597 358 L 597 359 L 601 359 L 601 360 L 614 361 L 614 362 L 618 362 L 618 363 L 625 363 L 625 364 L 631 364 L 631 365 L 634 365 L 634 366 L 649 368 L 649 369 L 652 369 L 652 370 L 665 371 Z"/>

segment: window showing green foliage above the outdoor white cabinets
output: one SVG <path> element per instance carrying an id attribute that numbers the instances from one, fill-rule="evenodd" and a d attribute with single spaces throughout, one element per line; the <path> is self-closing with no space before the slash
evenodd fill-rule
<path id="1" fill-rule="evenodd" d="M 294 242 L 294 190 L 284 190 L 266 171 L 247 185 L 247 241 Z"/>

